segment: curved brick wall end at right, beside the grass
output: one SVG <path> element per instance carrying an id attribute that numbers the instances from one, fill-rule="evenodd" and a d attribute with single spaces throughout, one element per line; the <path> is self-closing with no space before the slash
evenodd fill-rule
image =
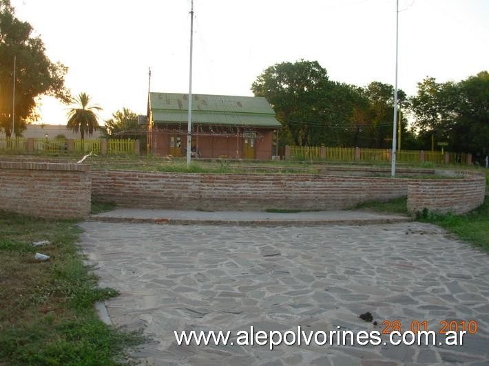
<path id="1" fill-rule="evenodd" d="M 459 175 L 454 179 L 410 179 L 408 211 L 427 208 L 438 213 L 466 213 L 484 202 L 486 178 L 469 172 L 446 172 Z"/>

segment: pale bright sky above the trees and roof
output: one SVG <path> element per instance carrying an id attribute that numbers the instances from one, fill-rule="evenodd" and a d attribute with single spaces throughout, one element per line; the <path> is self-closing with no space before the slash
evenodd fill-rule
<path id="1" fill-rule="evenodd" d="M 101 124 L 123 107 L 146 114 L 151 91 L 188 93 L 190 0 L 11 0 L 66 86 L 100 105 Z M 195 94 L 252 96 L 267 67 L 318 61 L 331 80 L 395 81 L 396 0 L 194 0 Z M 489 0 L 399 0 L 398 85 L 461 80 L 489 69 Z M 46 124 L 66 105 L 41 99 Z"/>

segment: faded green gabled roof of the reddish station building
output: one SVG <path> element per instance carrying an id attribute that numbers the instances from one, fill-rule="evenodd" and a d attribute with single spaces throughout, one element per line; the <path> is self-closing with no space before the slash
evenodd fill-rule
<path id="1" fill-rule="evenodd" d="M 149 103 L 154 122 L 187 122 L 187 94 L 150 93 Z M 267 100 L 254 96 L 193 94 L 192 121 L 209 125 L 281 127 Z"/>

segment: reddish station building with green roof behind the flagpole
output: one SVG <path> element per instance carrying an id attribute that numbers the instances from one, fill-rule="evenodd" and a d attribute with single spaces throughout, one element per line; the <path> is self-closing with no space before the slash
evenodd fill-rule
<path id="1" fill-rule="evenodd" d="M 148 144 L 156 155 L 187 153 L 187 94 L 149 93 Z M 271 159 L 281 125 L 265 98 L 192 96 L 191 150 L 201 158 Z"/>

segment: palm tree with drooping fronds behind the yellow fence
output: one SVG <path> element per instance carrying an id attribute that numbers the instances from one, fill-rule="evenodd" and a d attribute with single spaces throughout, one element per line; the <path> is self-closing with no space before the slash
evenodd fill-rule
<path id="1" fill-rule="evenodd" d="M 86 93 L 80 93 L 76 98 L 72 98 L 72 104 L 76 104 L 79 108 L 72 108 L 67 113 L 68 122 L 66 128 L 74 133 L 80 131 L 82 140 L 85 138 L 85 132 L 92 135 L 94 130 L 98 129 L 96 111 L 102 110 L 98 105 L 88 105 L 89 102 L 90 96 Z"/>

